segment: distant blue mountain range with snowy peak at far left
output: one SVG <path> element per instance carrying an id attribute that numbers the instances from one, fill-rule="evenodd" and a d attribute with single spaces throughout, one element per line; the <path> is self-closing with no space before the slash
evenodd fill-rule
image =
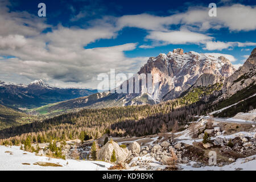
<path id="1" fill-rule="evenodd" d="M 31 109 L 94 93 L 97 90 L 51 87 L 43 80 L 35 80 L 28 85 L 0 81 L 0 104 L 13 108 Z"/>

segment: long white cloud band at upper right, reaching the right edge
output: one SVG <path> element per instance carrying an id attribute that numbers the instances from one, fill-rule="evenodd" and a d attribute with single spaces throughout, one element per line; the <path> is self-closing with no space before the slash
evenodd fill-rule
<path id="1" fill-rule="evenodd" d="M 208 7 L 193 7 L 185 13 L 170 16 L 150 14 L 124 15 L 117 20 L 117 27 L 138 27 L 146 30 L 167 31 L 171 25 L 181 24 L 197 27 L 197 30 L 229 28 L 230 31 L 249 31 L 256 29 L 256 7 L 232 5 L 217 7 L 217 17 L 209 17 Z"/>

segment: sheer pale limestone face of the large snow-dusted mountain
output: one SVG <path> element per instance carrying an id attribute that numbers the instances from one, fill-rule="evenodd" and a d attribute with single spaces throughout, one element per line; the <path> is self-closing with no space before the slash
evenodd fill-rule
<path id="1" fill-rule="evenodd" d="M 234 71 L 233 65 L 224 56 L 206 56 L 193 51 L 184 53 L 183 49 L 174 49 L 167 55 L 160 53 L 157 57 L 150 57 L 138 74 L 158 73 L 158 99 L 171 100 L 194 85 L 204 73 L 214 75 L 216 78 L 210 80 L 214 82 L 224 80 Z M 201 84 L 207 84 L 205 81 Z"/>

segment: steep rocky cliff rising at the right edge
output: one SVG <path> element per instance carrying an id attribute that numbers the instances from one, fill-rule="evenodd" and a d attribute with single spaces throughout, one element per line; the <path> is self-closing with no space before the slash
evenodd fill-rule
<path id="1" fill-rule="evenodd" d="M 256 81 L 256 48 L 253 49 L 249 58 L 236 72 L 225 80 L 223 97 L 232 96 L 239 90 L 246 88 Z"/>

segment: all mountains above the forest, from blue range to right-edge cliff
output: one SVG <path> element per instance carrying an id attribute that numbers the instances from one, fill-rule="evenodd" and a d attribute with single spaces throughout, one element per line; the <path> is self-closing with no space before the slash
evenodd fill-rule
<path id="1" fill-rule="evenodd" d="M 42 80 L 36 80 L 29 85 L 0 81 L 0 126 L 6 128 L 34 121 L 35 116 L 31 117 L 30 114 L 39 114 L 38 119 L 44 119 L 81 109 L 155 105 L 159 102 L 168 103 L 167 100 L 184 106 L 198 101 L 209 105 L 217 103 L 220 107 L 218 109 L 245 100 L 241 102 L 243 105 L 238 106 L 240 111 L 255 107 L 255 103 L 251 104 L 249 101 L 255 101 L 256 48 L 237 71 L 223 56 L 183 53 L 182 49 L 174 49 L 168 55 L 151 57 L 138 73 L 160 75 L 158 100 L 149 100 L 147 90 L 138 94 L 96 93 L 97 90 L 90 89 L 53 88 Z M 12 110 L 1 104 L 13 108 L 27 107 L 28 115 L 17 113 L 19 110 Z M 230 108 L 229 114 L 236 114 L 236 109 Z M 220 114 L 223 117 L 227 113 Z M 13 115 L 15 119 L 7 125 L 9 118 L 14 118 Z"/>

